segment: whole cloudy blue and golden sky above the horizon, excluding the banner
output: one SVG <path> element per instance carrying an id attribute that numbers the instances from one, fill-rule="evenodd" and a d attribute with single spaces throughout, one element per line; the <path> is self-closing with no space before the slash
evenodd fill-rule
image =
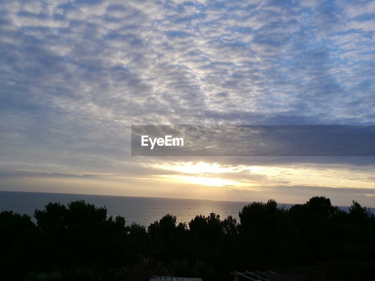
<path id="1" fill-rule="evenodd" d="M 374 125 L 375 1 L 0 1 L 0 190 L 375 207 L 374 157 L 132 157 L 131 125 Z"/>

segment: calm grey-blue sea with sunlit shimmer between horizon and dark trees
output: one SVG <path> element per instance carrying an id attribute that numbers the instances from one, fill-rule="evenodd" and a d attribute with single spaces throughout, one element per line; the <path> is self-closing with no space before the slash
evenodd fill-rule
<path id="1" fill-rule="evenodd" d="M 95 204 L 96 207 L 105 206 L 108 210 L 108 216 L 116 217 L 120 215 L 125 218 L 127 225 L 135 222 L 146 228 L 166 214 L 175 215 L 177 223 L 188 223 L 196 215 L 207 216 L 211 212 L 220 215 L 222 219 L 231 215 L 239 221 L 239 212 L 243 206 L 251 203 L 205 199 L 0 191 L 0 212 L 11 210 L 19 214 L 26 214 L 35 222 L 36 220 L 33 217 L 35 209 L 43 210 L 49 202 L 60 202 L 66 205 L 74 200 L 85 200 L 87 203 Z M 278 205 L 285 205 L 285 208 L 288 209 L 294 204 L 280 203 Z M 349 210 L 347 206 L 339 207 L 345 211 Z M 370 209 L 372 213 L 375 213 L 375 208 Z"/>

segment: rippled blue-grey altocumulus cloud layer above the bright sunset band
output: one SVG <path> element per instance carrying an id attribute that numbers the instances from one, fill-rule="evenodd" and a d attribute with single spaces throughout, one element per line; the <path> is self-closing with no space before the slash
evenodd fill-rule
<path id="1" fill-rule="evenodd" d="M 0 9 L 3 170 L 140 173 L 130 124 L 374 124 L 374 1 Z"/>

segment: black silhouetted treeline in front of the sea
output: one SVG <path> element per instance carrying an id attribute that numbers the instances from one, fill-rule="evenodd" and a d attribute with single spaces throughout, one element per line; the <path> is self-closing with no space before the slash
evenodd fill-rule
<path id="1" fill-rule="evenodd" d="M 211 213 L 146 229 L 83 200 L 49 203 L 31 217 L 0 213 L 0 280 L 148 280 L 151 275 L 232 280 L 229 272 L 322 262 L 375 262 L 375 218 L 313 197 L 290 209 L 275 200 L 243 207 L 240 221 Z"/>

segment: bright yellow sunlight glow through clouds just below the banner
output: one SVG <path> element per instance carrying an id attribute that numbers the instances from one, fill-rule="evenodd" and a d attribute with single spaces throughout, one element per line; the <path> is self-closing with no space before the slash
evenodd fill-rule
<path id="1" fill-rule="evenodd" d="M 151 164 L 153 168 L 172 172 L 156 174 L 153 180 L 212 187 L 254 189 L 276 185 L 306 185 L 331 188 L 373 188 L 368 172 L 355 172 L 345 166 L 246 166 L 220 163 L 165 162 Z M 217 176 L 220 174 L 220 176 Z M 348 177 L 352 174 L 351 177 Z"/>

